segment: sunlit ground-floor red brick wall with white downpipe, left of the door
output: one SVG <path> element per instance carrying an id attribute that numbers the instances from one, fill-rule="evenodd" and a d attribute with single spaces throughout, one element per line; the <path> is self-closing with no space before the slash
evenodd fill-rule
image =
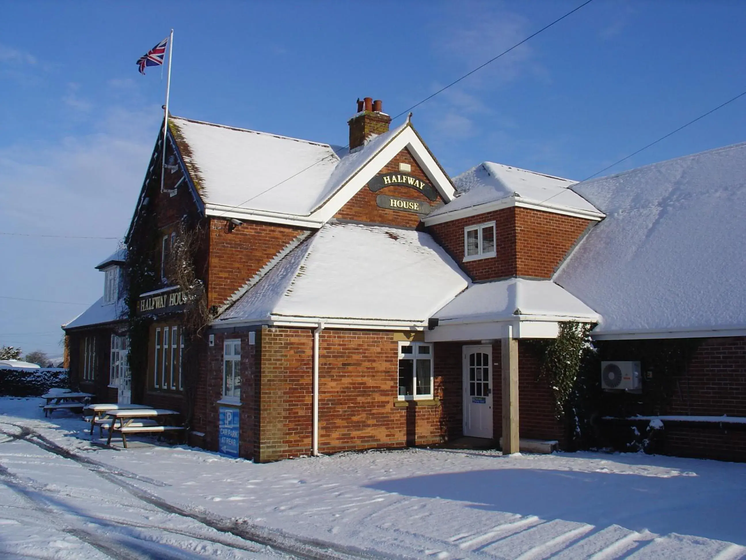
<path id="1" fill-rule="evenodd" d="M 436 402 L 395 405 L 399 401 L 394 333 L 327 329 L 319 346 L 319 452 L 434 444 L 454 430 L 460 432 L 460 401 L 454 408 L 457 400 L 444 386 L 454 382 L 452 370 L 436 367 Z M 266 328 L 261 351 L 260 449 L 254 458 L 275 461 L 308 455 L 313 331 Z M 437 352 L 436 366 L 447 365 L 448 360 L 439 362 Z M 457 393 L 460 396 L 459 389 Z"/>

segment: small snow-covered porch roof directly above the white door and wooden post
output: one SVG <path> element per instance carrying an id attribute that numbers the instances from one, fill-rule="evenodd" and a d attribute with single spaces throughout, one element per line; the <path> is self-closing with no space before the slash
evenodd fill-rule
<path id="1" fill-rule="evenodd" d="M 598 321 L 595 311 L 553 281 L 521 278 L 473 284 L 433 317 L 440 324 L 515 319 Z"/>

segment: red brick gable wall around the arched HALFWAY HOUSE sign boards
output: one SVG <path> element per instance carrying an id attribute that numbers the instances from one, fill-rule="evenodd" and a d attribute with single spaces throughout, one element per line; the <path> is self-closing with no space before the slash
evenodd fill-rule
<path id="1" fill-rule="evenodd" d="M 427 178 L 424 171 L 419 164 L 412 157 L 410 151 L 406 148 L 402 149 L 388 164 L 386 164 L 380 172 L 399 172 L 399 164 L 410 164 L 412 171 L 407 172 L 407 175 L 419 178 L 421 181 L 431 183 L 430 179 Z M 442 198 L 438 196 L 436 201 L 432 201 L 420 193 L 419 190 L 410 187 L 384 187 L 383 189 L 373 193 L 367 187 L 363 187 L 358 193 L 353 196 L 347 204 L 342 206 L 340 210 L 335 214 L 335 218 L 341 220 L 358 220 L 360 222 L 369 223 L 386 223 L 391 225 L 401 225 L 404 227 L 415 228 L 420 223 L 419 214 L 412 214 L 410 212 L 403 212 L 398 210 L 386 210 L 385 208 L 378 208 L 376 205 L 376 197 L 379 194 L 386 194 L 389 196 L 399 196 L 405 199 L 420 200 L 427 202 L 429 205 L 442 204 Z"/>

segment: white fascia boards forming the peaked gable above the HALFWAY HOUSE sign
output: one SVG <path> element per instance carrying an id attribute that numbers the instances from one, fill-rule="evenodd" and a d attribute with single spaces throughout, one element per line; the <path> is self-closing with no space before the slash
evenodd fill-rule
<path id="1" fill-rule="evenodd" d="M 376 155 L 368 160 L 351 178 L 342 185 L 322 205 L 321 208 L 310 215 L 310 219 L 320 223 L 327 223 L 334 217 L 342 206 L 347 204 L 360 189 L 366 186 L 374 175 L 389 163 L 402 149 L 409 148 L 415 160 L 424 169 L 425 174 L 433 181 L 436 190 L 448 202 L 454 198 L 454 187 L 448 177 L 440 170 L 433 157 L 427 152 L 421 140 L 410 126 L 403 128 L 399 134 L 392 137 L 385 146 L 378 150 Z"/>

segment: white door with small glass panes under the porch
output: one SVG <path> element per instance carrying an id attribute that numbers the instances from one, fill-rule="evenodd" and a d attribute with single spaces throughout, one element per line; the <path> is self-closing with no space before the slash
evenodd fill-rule
<path id="1" fill-rule="evenodd" d="M 492 438 L 492 346 L 463 347 L 464 435 Z"/>

